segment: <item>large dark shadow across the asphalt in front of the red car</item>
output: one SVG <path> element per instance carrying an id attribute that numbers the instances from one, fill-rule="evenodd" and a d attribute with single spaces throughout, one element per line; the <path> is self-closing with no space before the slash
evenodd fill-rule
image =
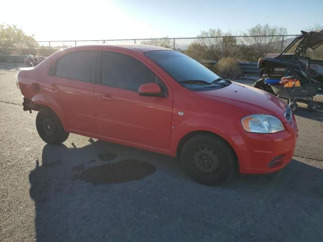
<path id="1" fill-rule="evenodd" d="M 45 145 L 31 171 L 37 241 L 319 241 L 323 170 L 293 160 L 202 186 L 176 159 L 108 142 Z"/>

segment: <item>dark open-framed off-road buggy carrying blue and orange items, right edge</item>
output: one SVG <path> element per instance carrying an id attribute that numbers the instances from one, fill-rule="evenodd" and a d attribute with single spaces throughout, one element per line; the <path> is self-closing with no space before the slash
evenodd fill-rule
<path id="1" fill-rule="evenodd" d="M 294 112 L 297 101 L 307 103 L 310 111 L 316 110 L 313 97 L 317 88 L 323 87 L 323 30 L 301 33 L 278 56 L 259 59 L 260 79 L 254 84 L 287 99 Z"/>

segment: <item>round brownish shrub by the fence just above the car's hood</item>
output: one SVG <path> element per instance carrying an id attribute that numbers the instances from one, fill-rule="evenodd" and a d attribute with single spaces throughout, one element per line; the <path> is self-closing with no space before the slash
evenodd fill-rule
<path id="1" fill-rule="evenodd" d="M 237 78 L 242 75 L 239 60 L 233 57 L 221 58 L 213 69 L 223 78 Z"/>

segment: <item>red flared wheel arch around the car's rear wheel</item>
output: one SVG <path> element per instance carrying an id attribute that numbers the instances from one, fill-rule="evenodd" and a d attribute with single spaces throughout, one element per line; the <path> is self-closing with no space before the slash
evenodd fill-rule
<path id="1" fill-rule="evenodd" d="M 68 131 L 63 110 L 53 98 L 45 94 L 37 94 L 31 99 L 31 101 L 36 105 L 44 105 L 53 110 L 56 113 L 56 115 L 60 118 L 64 130 Z"/>

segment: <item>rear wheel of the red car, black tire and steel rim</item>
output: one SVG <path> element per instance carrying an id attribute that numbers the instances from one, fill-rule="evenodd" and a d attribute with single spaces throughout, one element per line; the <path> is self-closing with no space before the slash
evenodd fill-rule
<path id="1" fill-rule="evenodd" d="M 40 109 L 37 113 L 36 128 L 40 138 L 49 145 L 62 144 L 70 135 L 65 132 L 56 113 L 49 108 Z"/>

